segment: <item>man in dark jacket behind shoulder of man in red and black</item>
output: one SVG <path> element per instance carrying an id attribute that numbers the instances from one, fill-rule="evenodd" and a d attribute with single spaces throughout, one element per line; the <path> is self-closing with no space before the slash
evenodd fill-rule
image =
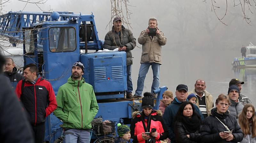
<path id="1" fill-rule="evenodd" d="M 10 79 L 12 88 L 14 89 L 16 88 L 17 83 L 24 79 L 21 74 L 17 73 L 14 61 L 10 57 L 5 58 L 4 75 Z"/>

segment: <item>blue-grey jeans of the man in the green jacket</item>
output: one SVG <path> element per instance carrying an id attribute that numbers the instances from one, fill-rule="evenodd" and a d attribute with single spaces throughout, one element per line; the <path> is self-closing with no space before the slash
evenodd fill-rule
<path id="1" fill-rule="evenodd" d="M 65 131 L 65 143 L 90 142 L 90 130 L 69 129 Z"/>

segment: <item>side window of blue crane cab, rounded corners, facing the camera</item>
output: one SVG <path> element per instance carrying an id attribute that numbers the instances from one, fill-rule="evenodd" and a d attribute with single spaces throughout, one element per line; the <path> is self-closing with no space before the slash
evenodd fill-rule
<path id="1" fill-rule="evenodd" d="M 76 49 L 76 31 L 73 27 L 55 27 L 49 30 L 51 52 L 68 52 Z"/>

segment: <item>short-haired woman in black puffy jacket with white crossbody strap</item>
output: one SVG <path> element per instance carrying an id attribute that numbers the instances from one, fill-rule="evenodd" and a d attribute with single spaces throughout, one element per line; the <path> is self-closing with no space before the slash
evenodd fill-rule
<path id="1" fill-rule="evenodd" d="M 210 116 L 203 121 L 200 129 L 201 141 L 207 143 L 240 142 L 244 134 L 237 123 L 236 117 L 229 114 L 230 101 L 227 95 L 220 94 Z M 226 132 L 225 132 L 226 131 Z"/>

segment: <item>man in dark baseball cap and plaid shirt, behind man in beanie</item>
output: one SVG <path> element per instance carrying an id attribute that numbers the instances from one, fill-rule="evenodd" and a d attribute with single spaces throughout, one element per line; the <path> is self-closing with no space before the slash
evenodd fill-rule
<path id="1" fill-rule="evenodd" d="M 237 87 L 239 88 L 239 97 L 238 97 L 239 102 L 242 103 L 243 105 L 248 104 L 248 103 L 252 104 L 249 97 L 247 97 L 244 94 L 241 94 L 242 84 L 244 84 L 244 81 L 240 81 L 239 79 L 231 79 L 229 81 L 229 87 L 231 85 L 237 85 Z"/>

